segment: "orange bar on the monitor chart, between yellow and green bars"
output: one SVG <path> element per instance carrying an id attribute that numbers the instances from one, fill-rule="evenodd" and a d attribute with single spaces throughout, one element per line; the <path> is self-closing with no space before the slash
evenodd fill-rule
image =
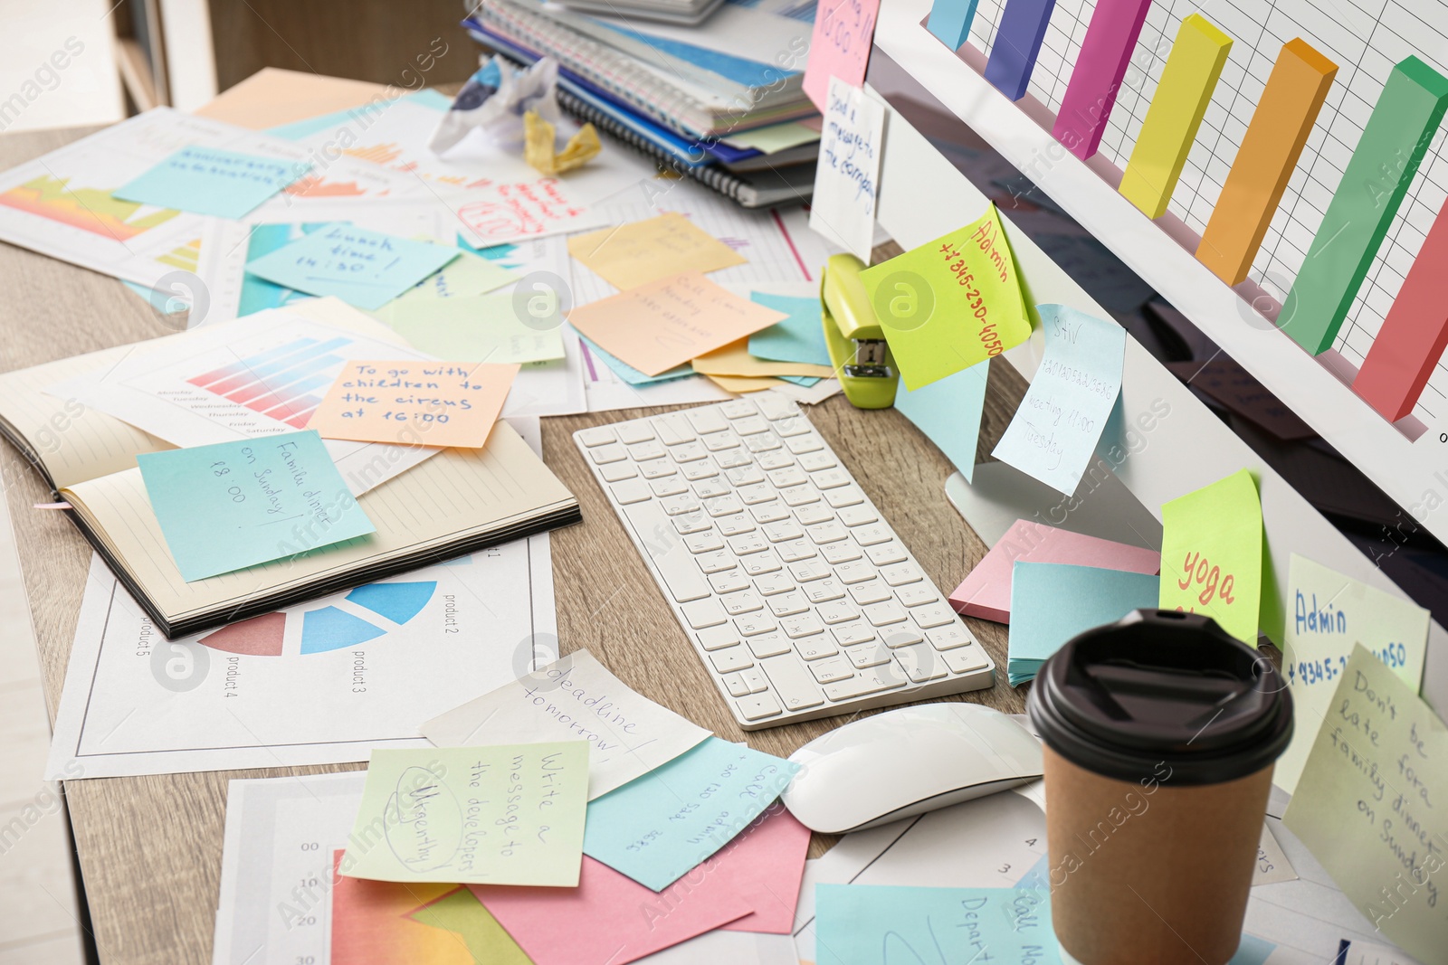
<path id="1" fill-rule="evenodd" d="M 1196 249 L 1196 260 L 1228 285 L 1247 278 L 1337 72 L 1302 38 L 1277 55 Z"/>

